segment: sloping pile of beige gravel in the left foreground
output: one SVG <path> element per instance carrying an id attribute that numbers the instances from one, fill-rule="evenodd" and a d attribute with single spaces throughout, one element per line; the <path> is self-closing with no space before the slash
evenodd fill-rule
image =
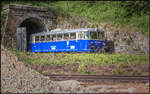
<path id="1" fill-rule="evenodd" d="M 90 93 L 80 82 L 51 81 L 1 46 L 1 92 L 10 93 Z"/>

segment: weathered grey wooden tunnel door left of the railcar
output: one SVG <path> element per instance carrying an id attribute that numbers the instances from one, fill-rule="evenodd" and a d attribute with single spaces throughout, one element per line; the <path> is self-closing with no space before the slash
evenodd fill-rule
<path id="1" fill-rule="evenodd" d="M 27 33 L 25 27 L 17 28 L 16 48 L 20 51 L 27 51 Z"/>

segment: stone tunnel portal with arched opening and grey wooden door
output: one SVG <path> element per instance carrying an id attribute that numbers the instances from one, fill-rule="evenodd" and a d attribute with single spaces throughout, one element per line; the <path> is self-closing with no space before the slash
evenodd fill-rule
<path id="1" fill-rule="evenodd" d="M 2 8 L 2 11 L 6 13 L 2 44 L 17 50 L 23 45 L 25 50 L 19 49 L 20 51 L 30 50 L 31 34 L 57 27 L 58 12 L 52 8 L 8 4 Z M 26 41 L 22 42 L 24 40 Z"/>

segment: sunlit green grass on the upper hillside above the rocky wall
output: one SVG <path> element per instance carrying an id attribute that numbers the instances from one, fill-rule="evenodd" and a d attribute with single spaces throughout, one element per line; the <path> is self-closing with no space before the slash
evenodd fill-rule
<path id="1" fill-rule="evenodd" d="M 133 2 L 124 3 L 129 5 Z M 148 13 L 137 11 L 135 8 L 132 8 L 132 6 L 130 6 L 131 8 L 129 6 L 123 7 L 120 1 L 97 1 L 96 3 L 90 1 L 60 1 L 52 3 L 52 7 L 59 7 L 66 13 L 87 18 L 93 22 L 108 23 L 112 26 L 121 28 L 125 27 L 125 29 L 129 29 L 130 31 L 138 31 L 143 34 L 148 32 L 149 28 Z"/>

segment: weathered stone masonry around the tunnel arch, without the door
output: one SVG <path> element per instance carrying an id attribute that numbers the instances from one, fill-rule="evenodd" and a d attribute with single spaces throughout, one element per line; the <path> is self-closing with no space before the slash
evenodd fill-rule
<path id="1" fill-rule="evenodd" d="M 43 32 L 56 28 L 57 13 L 54 9 L 10 4 L 3 10 L 7 11 L 3 41 L 5 46 L 16 48 L 16 30 L 21 26 L 27 28 L 27 34 L 38 32 L 39 29 Z M 41 24 L 43 27 L 38 28 Z M 33 31 L 31 28 L 37 28 L 37 30 Z"/>

